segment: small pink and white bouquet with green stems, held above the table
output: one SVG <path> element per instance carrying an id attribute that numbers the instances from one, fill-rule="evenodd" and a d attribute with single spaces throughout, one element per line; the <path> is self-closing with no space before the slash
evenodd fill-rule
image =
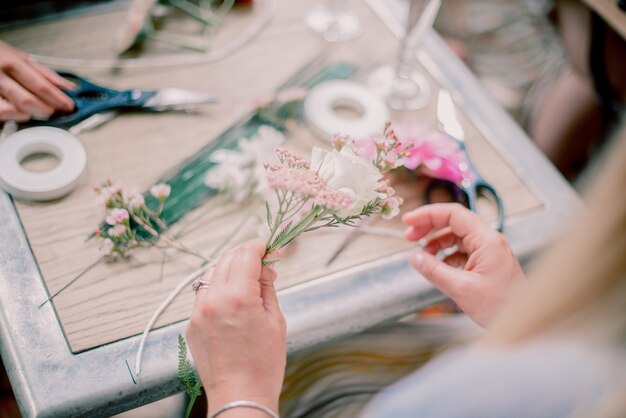
<path id="1" fill-rule="evenodd" d="M 273 209 L 266 205 L 270 229 L 266 253 L 305 232 L 354 225 L 364 216 L 391 218 L 398 214 L 402 198 L 383 179 L 383 173 L 400 165 L 407 151 L 390 125 L 375 142 L 371 156 L 361 156 L 357 142 L 346 136 L 335 137 L 333 145 L 330 152 L 313 148 L 310 163 L 279 149 L 278 162 L 266 164 L 277 202 Z"/>

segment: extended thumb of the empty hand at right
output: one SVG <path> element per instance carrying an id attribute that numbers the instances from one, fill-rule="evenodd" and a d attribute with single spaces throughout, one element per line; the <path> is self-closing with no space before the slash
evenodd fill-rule
<path id="1" fill-rule="evenodd" d="M 449 266 L 425 251 L 412 253 L 409 262 L 426 280 L 452 299 L 456 296 L 459 282 L 465 279 L 465 271 Z"/>

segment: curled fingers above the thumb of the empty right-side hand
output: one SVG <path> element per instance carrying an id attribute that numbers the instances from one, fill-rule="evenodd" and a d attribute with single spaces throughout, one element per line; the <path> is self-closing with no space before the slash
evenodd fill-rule
<path id="1" fill-rule="evenodd" d="M 494 233 L 478 215 L 458 203 L 422 206 L 406 213 L 402 221 L 409 225 L 405 232 L 408 240 L 417 241 L 432 230 L 449 228 L 468 253 L 476 251 L 483 238 Z"/>

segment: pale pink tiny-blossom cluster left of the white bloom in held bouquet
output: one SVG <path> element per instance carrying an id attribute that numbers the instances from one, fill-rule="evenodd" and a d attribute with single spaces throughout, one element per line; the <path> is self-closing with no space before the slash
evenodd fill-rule
<path id="1" fill-rule="evenodd" d="M 352 198 L 339 190 L 328 187 L 324 179 L 309 167 L 309 162 L 299 154 L 284 148 L 276 150 L 278 163 L 265 165 L 267 181 L 272 190 L 285 191 L 290 198 L 311 200 L 331 211 L 345 209 Z"/>

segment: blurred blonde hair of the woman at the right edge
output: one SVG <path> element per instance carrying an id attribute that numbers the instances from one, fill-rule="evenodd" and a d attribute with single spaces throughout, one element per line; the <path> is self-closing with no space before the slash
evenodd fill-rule
<path id="1" fill-rule="evenodd" d="M 511 344 L 556 330 L 624 342 L 626 124 L 588 195 L 588 209 L 529 274 L 482 343 Z"/>

